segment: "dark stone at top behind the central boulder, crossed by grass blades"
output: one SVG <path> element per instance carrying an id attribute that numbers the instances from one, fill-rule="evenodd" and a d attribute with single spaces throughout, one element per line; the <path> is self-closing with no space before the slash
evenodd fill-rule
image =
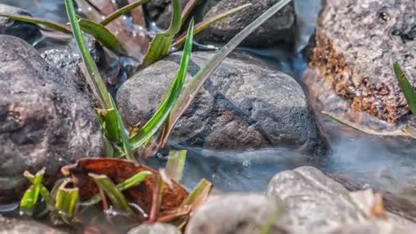
<path id="1" fill-rule="evenodd" d="M 194 16 L 198 20 L 211 18 L 240 5 L 251 3 L 250 8 L 204 29 L 196 40 L 205 43 L 226 43 L 242 31 L 257 17 L 263 14 L 279 0 L 209 0 L 202 3 Z M 282 42 L 293 43 L 296 25 L 296 14 L 293 1 L 276 13 L 272 18 L 256 29 L 244 42 L 248 47 L 270 47 Z"/>

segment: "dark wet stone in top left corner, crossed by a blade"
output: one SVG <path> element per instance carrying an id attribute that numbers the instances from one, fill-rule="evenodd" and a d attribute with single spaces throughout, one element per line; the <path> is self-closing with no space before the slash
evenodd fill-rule
<path id="1" fill-rule="evenodd" d="M 22 16 L 31 16 L 29 12 L 21 8 L 16 8 L 11 5 L 0 3 L 0 12 L 4 14 L 18 14 Z M 16 36 L 23 40 L 33 43 L 42 37 L 38 25 L 31 23 L 23 23 L 22 21 L 15 21 L 7 17 L 0 17 L 0 34 Z"/>

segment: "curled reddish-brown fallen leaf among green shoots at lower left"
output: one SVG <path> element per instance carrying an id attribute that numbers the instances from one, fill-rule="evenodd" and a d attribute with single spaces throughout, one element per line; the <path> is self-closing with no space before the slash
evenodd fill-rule
<path id="1" fill-rule="evenodd" d="M 88 173 L 105 174 L 114 183 L 118 184 L 144 170 L 149 170 L 153 174 L 146 177 L 139 185 L 125 190 L 123 194 L 125 194 L 129 202 L 139 205 L 146 213 L 150 213 L 153 190 L 155 190 L 156 186 L 155 177 L 159 172 L 148 166 L 142 164 L 135 165 L 130 161 L 122 159 L 85 158 L 79 159 L 77 164 L 64 166 L 62 174 L 70 174 L 75 181 L 75 185 L 79 187 L 79 198 L 88 200 L 99 193 L 99 188 L 96 187 Z M 164 212 L 181 207 L 183 201 L 188 196 L 186 190 L 177 181 L 172 182 L 174 190 L 170 190 L 168 185 L 162 187 L 161 216 L 163 216 Z"/>

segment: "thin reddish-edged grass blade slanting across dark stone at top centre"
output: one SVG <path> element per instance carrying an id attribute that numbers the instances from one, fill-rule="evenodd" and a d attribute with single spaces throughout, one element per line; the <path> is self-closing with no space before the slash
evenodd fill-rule
<path id="1" fill-rule="evenodd" d="M 200 31 L 203 31 L 203 29 L 206 29 L 207 27 L 213 25 L 214 23 L 217 23 L 218 21 L 221 21 L 222 19 L 224 19 L 226 17 L 229 17 L 229 16 L 231 16 L 231 15 L 237 13 L 237 12 L 240 12 L 240 11 L 250 7 L 250 5 L 252 5 L 252 4 L 247 3 L 247 4 L 244 4 L 244 5 L 240 5 L 239 7 L 233 8 L 233 9 L 227 11 L 227 12 L 219 14 L 218 16 L 215 16 L 215 17 L 207 19 L 206 21 L 197 23 L 195 25 L 195 29 L 194 29 L 194 36 L 196 34 L 198 34 Z M 176 47 L 176 48 L 181 47 L 182 44 L 185 42 L 185 39 L 186 39 L 185 34 L 179 36 L 179 38 L 177 38 L 177 40 L 175 40 L 175 42 L 173 42 L 172 47 Z"/>

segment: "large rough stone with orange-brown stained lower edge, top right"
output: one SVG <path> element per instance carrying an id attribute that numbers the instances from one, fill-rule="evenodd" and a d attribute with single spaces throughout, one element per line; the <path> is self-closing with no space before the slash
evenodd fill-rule
<path id="1" fill-rule="evenodd" d="M 309 83 L 328 83 L 355 112 L 398 120 L 409 110 L 392 66 L 399 62 L 415 86 L 415 14 L 413 0 L 324 1 L 309 64 L 320 76 Z M 328 96 L 324 103 L 336 103 Z"/>

